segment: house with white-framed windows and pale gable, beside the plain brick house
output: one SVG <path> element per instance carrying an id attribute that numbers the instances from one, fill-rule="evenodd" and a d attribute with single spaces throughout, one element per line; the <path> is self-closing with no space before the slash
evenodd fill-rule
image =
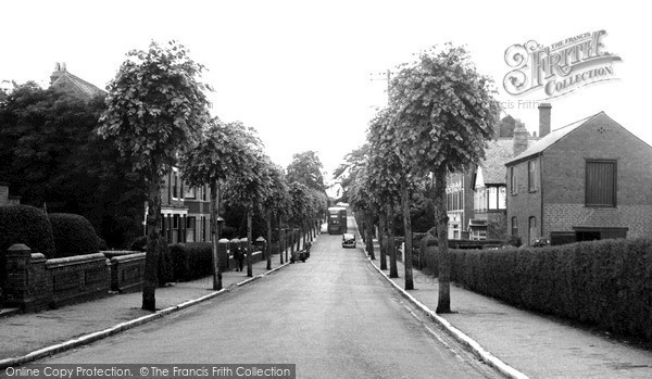
<path id="1" fill-rule="evenodd" d="M 504 240 L 507 237 L 504 164 L 536 142 L 537 137 L 536 134 L 530 136 L 523 123 L 510 115 L 496 125 L 494 136 L 485 149 L 482 162 L 448 176 L 450 239 Z"/>

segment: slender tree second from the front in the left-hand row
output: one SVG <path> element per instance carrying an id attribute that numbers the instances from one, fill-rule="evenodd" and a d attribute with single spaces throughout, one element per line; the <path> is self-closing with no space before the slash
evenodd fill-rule
<path id="1" fill-rule="evenodd" d="M 189 186 L 209 185 L 211 193 L 211 233 L 213 244 L 213 289 L 222 289 L 222 264 L 217 254 L 220 239 L 220 191 L 222 181 L 236 178 L 253 160 L 248 147 L 250 136 L 240 124 L 223 124 L 213 118 L 203 138 L 180 159 L 184 180 Z"/>

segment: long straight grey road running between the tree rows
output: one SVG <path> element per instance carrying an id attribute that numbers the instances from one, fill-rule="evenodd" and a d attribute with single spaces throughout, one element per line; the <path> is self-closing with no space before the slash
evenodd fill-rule
<path id="1" fill-rule="evenodd" d="M 500 377 L 340 241 L 321 235 L 306 263 L 39 364 L 289 363 L 298 378 Z"/>

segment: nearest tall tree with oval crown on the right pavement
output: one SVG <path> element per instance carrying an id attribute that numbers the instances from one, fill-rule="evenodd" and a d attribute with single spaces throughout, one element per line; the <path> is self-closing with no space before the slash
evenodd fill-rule
<path id="1" fill-rule="evenodd" d="M 450 254 L 446 177 L 484 159 L 498 102 L 491 79 L 477 73 L 466 50 L 447 45 L 422 52 L 392 79 L 390 103 L 399 140 L 415 173 L 434 175 L 439 249 L 438 313 L 450 313 Z"/>

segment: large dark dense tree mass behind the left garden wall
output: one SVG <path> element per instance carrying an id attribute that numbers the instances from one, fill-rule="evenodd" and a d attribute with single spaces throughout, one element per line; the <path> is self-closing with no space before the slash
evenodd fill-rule
<path id="1" fill-rule="evenodd" d="M 103 96 L 82 101 L 34 83 L 0 104 L 0 173 L 23 204 L 86 217 L 109 247 L 142 235 L 142 179 L 97 135 Z"/>

